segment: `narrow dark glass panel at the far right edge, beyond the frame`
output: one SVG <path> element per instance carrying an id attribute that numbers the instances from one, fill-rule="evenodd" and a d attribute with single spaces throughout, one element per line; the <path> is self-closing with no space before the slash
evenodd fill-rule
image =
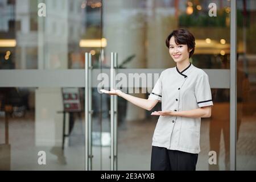
<path id="1" fill-rule="evenodd" d="M 256 2 L 237 1 L 237 169 L 256 169 Z"/>

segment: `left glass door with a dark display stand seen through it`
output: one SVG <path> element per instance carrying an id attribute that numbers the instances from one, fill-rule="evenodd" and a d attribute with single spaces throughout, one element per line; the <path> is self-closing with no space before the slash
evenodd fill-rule
<path id="1" fill-rule="evenodd" d="M 101 1 L 0 5 L 0 169 L 85 170 L 85 52 L 100 69 Z M 94 88 L 92 168 L 100 170 L 108 111 Z"/>

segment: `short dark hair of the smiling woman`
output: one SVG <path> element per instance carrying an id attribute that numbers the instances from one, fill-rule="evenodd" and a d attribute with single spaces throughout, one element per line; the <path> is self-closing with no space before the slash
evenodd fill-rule
<path id="1" fill-rule="evenodd" d="M 172 36 L 174 36 L 174 40 L 177 45 L 186 44 L 188 46 L 188 50 L 192 49 L 192 51 L 189 52 L 190 58 L 193 55 L 196 47 L 195 37 L 191 34 L 191 32 L 183 28 L 172 31 L 171 34 L 166 38 L 166 46 L 168 48 L 170 47 L 170 39 Z"/>

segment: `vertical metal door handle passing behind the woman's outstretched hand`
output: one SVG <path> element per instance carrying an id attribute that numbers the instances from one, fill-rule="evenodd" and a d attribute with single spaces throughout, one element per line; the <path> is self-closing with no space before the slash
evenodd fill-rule
<path id="1" fill-rule="evenodd" d="M 110 89 L 115 89 L 115 75 L 117 68 L 117 53 L 111 52 L 110 67 Z M 111 147 L 110 147 L 110 170 L 117 170 L 117 96 L 110 96 L 110 130 L 111 130 Z"/>

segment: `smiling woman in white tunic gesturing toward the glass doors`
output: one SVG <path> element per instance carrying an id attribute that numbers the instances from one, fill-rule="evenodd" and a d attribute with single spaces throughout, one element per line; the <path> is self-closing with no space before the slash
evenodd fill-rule
<path id="1" fill-rule="evenodd" d="M 148 99 L 130 96 L 121 90 L 101 90 L 151 110 L 159 101 L 162 111 L 152 139 L 151 170 L 195 170 L 200 152 L 201 118 L 211 115 L 212 94 L 208 75 L 189 62 L 195 38 L 178 29 L 167 36 L 166 46 L 176 67 L 165 69 Z"/>

